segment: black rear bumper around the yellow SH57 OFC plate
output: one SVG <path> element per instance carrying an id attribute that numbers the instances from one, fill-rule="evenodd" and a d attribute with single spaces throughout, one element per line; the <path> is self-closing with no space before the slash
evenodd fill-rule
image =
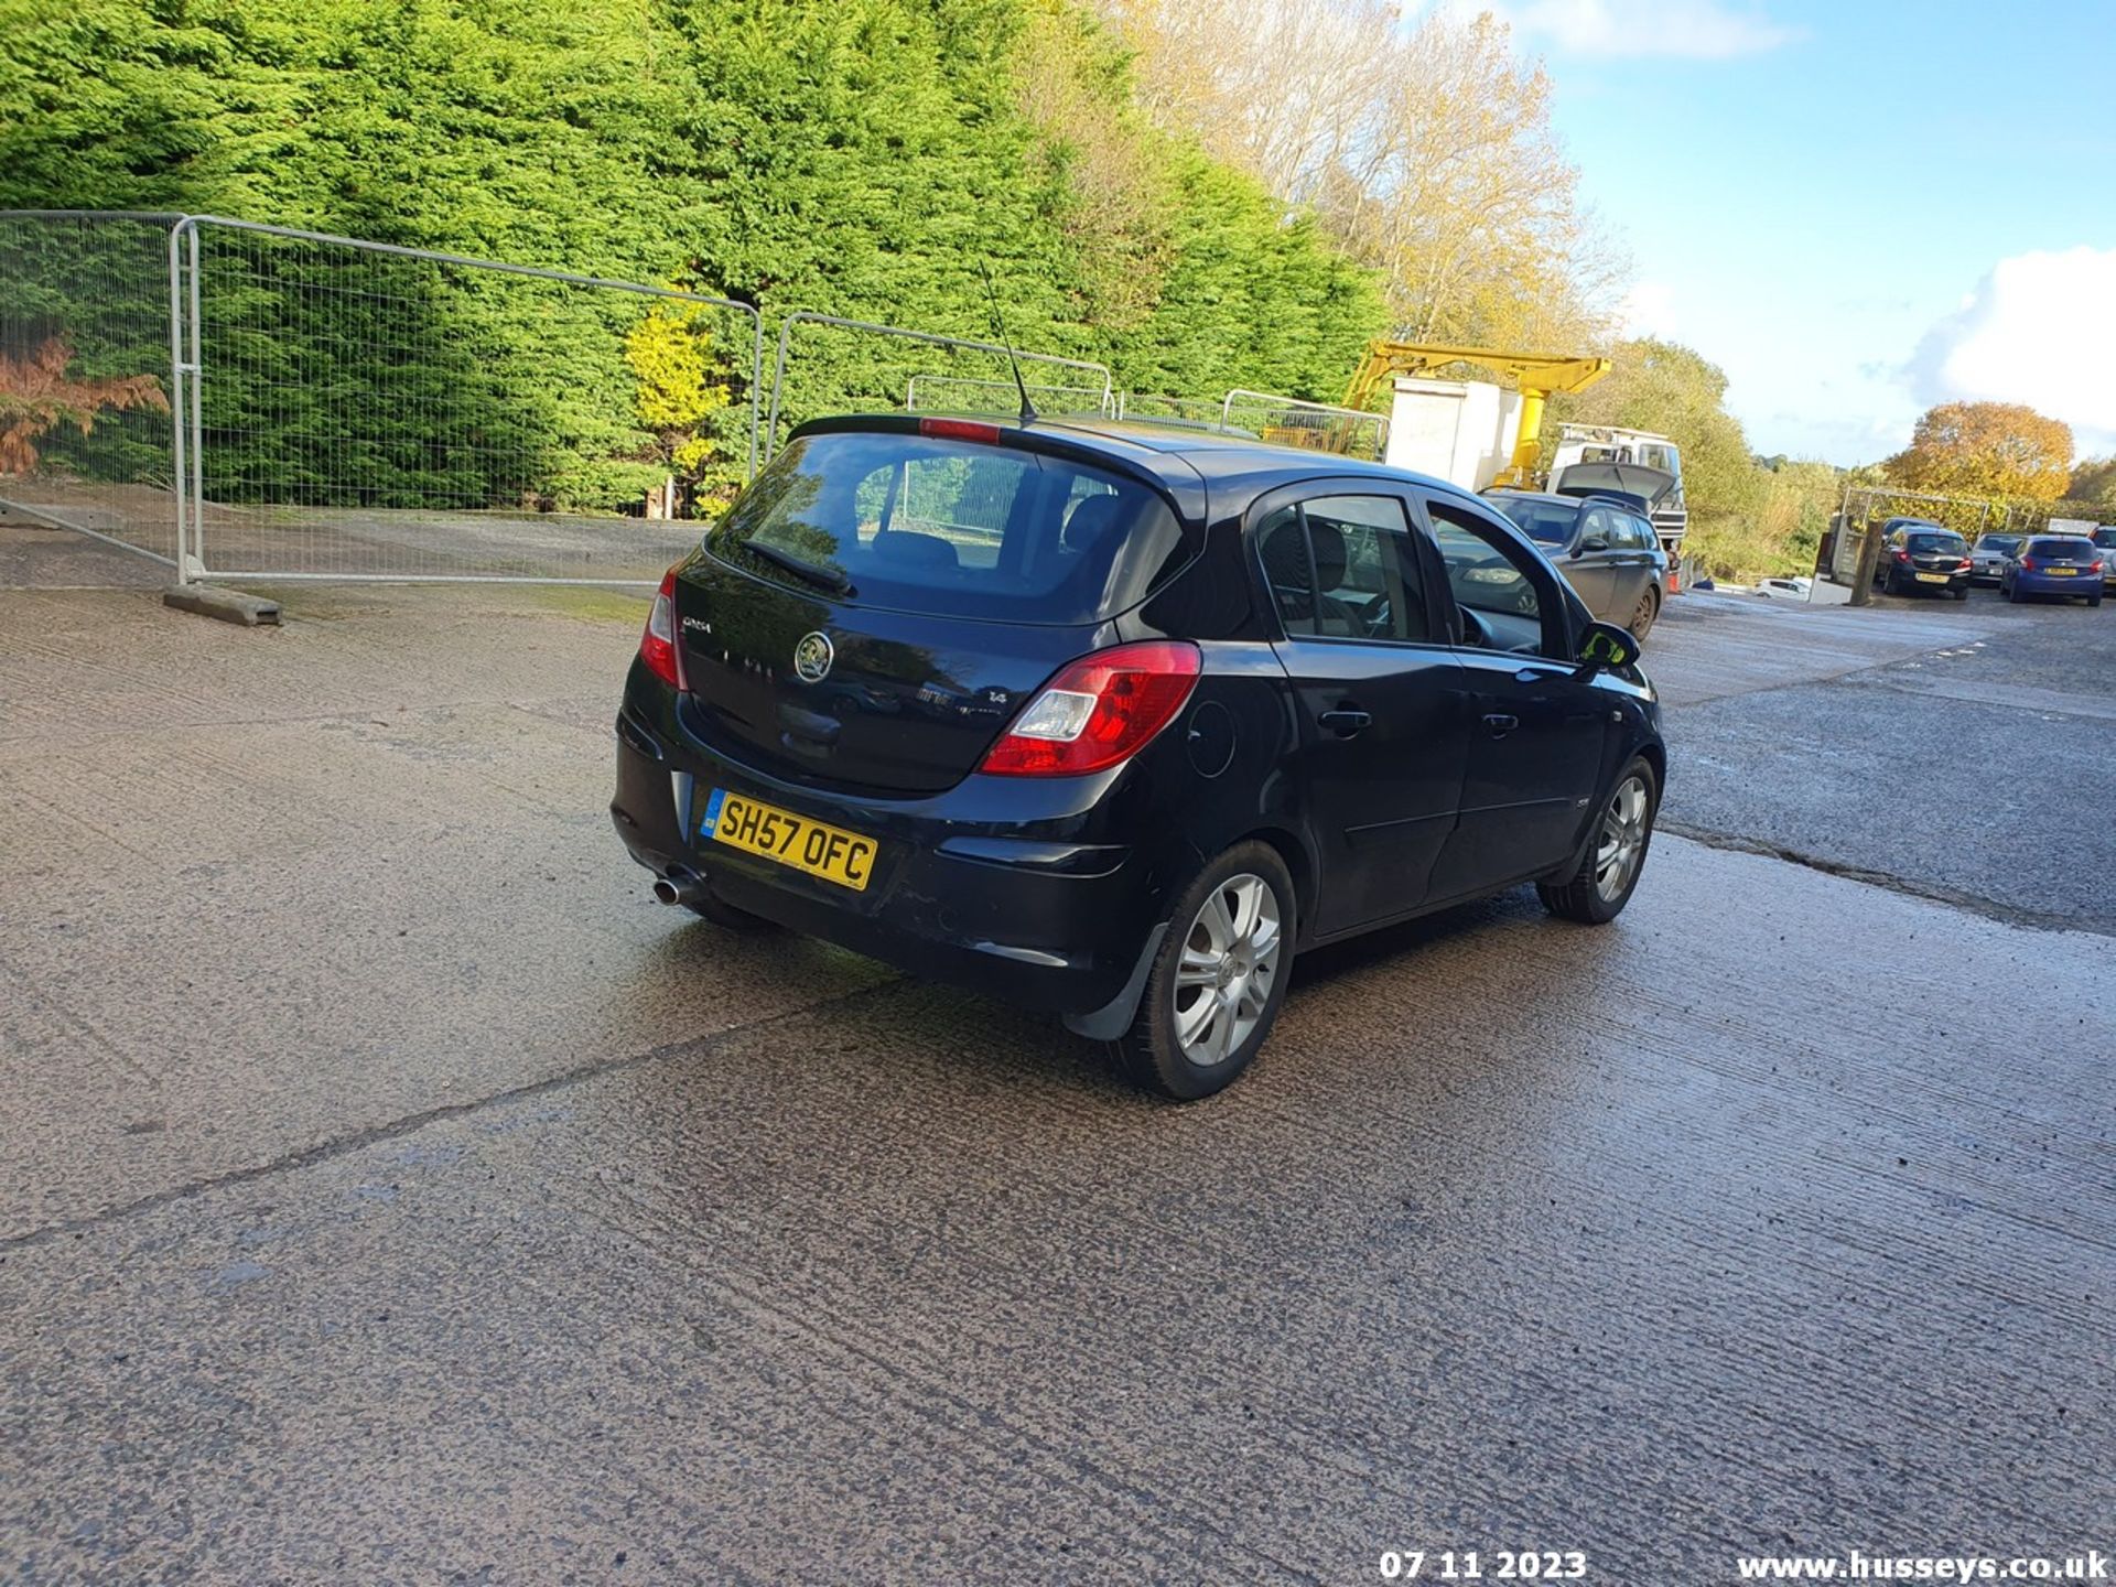
<path id="1" fill-rule="evenodd" d="M 1060 810 L 1043 821 L 995 819 L 995 781 L 1020 779 L 971 777 L 908 800 L 819 796 L 683 736 L 673 719 L 650 726 L 624 711 L 609 815 L 647 870 L 703 876 L 724 901 L 791 931 L 1018 1007 L 1075 1020 L 1105 1011 L 1134 984 L 1185 861 L 1160 844 L 1143 853 L 1090 840 L 1096 823 L 1062 804 L 1092 806 L 1092 787 L 1007 789 L 1022 794 L 1016 804 L 1056 798 Z M 870 884 L 855 893 L 700 842 L 698 817 L 715 787 L 876 838 Z"/>

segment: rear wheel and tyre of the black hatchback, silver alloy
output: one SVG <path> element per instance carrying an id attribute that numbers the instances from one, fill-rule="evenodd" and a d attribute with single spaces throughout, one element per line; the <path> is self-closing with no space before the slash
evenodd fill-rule
<path id="1" fill-rule="evenodd" d="M 1183 889 L 1117 1058 L 1143 1088 L 1189 1102 L 1248 1069 L 1293 969 L 1293 878 L 1278 851 L 1240 842 Z"/>

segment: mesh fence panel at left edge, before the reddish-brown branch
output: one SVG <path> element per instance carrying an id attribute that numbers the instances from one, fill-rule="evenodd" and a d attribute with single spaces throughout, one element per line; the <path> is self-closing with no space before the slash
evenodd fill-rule
<path id="1" fill-rule="evenodd" d="M 0 514 L 176 565 L 178 216 L 0 212 Z"/>

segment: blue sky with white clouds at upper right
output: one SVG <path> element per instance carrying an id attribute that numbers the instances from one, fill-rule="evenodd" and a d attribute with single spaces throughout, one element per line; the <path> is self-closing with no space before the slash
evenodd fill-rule
<path id="1" fill-rule="evenodd" d="M 1875 461 L 1934 400 L 2116 451 L 2116 0 L 1513 0 L 1636 330 L 1758 453 Z"/>

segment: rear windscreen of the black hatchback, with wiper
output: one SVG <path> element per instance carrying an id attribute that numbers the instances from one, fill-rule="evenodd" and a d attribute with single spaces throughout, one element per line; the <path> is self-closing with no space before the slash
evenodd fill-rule
<path id="1" fill-rule="evenodd" d="M 794 440 L 707 548 L 853 605 L 1035 624 L 1124 612 L 1196 552 L 1168 501 L 1136 480 L 904 432 Z"/>

